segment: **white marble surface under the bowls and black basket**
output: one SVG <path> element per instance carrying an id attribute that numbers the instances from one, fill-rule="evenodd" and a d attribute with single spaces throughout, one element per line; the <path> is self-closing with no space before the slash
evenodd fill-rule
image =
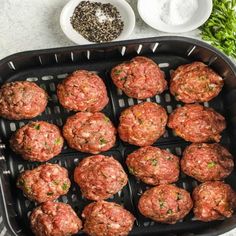
<path id="1" fill-rule="evenodd" d="M 167 35 L 152 29 L 140 19 L 136 8 L 137 0 L 127 1 L 135 10 L 137 22 L 130 39 Z M 75 45 L 66 38 L 59 25 L 60 12 L 67 2 L 68 0 L 0 0 L 0 59 L 26 50 Z M 199 38 L 198 30 L 182 35 Z M 236 230 L 224 234 L 234 235 Z"/>

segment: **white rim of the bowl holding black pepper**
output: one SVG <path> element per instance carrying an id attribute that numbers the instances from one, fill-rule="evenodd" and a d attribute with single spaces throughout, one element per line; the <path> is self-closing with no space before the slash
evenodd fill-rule
<path id="1" fill-rule="evenodd" d="M 75 34 L 72 35 L 70 33 L 70 31 L 71 31 L 70 23 L 68 23 L 68 21 L 65 22 L 65 19 L 68 19 L 71 17 L 71 16 L 68 16 L 67 11 L 69 11 L 72 7 L 74 8 L 74 5 L 77 6 L 82 1 L 84 1 L 84 0 L 70 0 L 69 2 L 67 2 L 64 5 L 64 7 L 62 8 L 62 11 L 60 13 L 60 19 L 59 19 L 60 20 L 60 27 L 61 27 L 63 33 L 65 34 L 65 36 L 77 45 L 96 44 L 96 42 L 88 41 L 79 32 L 77 32 L 75 30 L 74 30 L 74 32 L 77 34 L 77 36 L 75 36 Z M 121 36 L 122 35 L 122 32 L 121 32 L 121 35 L 119 35 L 116 39 L 114 39 L 110 42 L 127 40 L 128 37 L 130 36 L 130 34 L 133 32 L 134 27 L 135 27 L 135 14 L 134 14 L 134 11 L 133 11 L 132 7 L 130 6 L 130 4 L 126 0 L 89 0 L 89 1 L 101 2 L 101 3 L 111 3 L 118 10 L 120 8 L 119 6 L 122 6 L 124 9 L 126 9 L 126 11 L 122 11 L 122 12 L 127 12 L 127 15 L 129 16 L 128 21 L 125 21 L 123 19 L 124 28 L 126 27 L 126 33 L 123 36 Z M 121 10 L 119 12 L 121 12 Z M 121 13 L 121 15 L 122 15 L 122 13 Z M 101 43 L 107 43 L 107 42 L 101 42 Z"/>

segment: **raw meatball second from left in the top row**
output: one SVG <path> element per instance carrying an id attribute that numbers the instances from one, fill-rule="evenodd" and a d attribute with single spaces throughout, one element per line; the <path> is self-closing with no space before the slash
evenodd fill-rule
<path id="1" fill-rule="evenodd" d="M 89 71 L 77 70 L 57 86 L 61 105 L 74 111 L 101 111 L 108 103 L 102 79 Z"/>

